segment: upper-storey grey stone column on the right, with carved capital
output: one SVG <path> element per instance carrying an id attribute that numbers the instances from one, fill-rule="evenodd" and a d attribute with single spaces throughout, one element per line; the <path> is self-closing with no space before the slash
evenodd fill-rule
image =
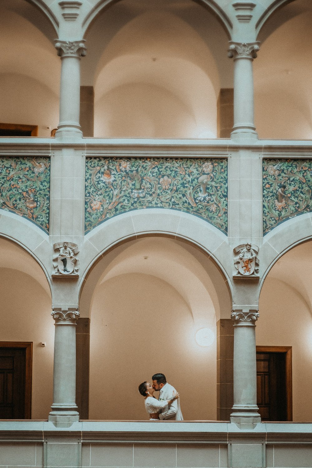
<path id="1" fill-rule="evenodd" d="M 232 138 L 257 139 L 254 126 L 253 60 L 259 43 L 231 42 L 228 52 L 234 58 L 234 125 Z"/>

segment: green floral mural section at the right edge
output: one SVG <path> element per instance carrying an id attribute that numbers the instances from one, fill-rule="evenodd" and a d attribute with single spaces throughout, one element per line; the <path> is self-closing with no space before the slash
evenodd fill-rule
<path id="1" fill-rule="evenodd" d="M 312 161 L 263 160 L 263 234 L 312 209 Z"/>

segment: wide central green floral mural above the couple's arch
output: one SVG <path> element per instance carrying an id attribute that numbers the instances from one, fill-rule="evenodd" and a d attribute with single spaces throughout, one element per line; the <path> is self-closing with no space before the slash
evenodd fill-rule
<path id="1" fill-rule="evenodd" d="M 171 208 L 227 233 L 226 159 L 90 158 L 86 162 L 86 233 L 118 214 Z"/>

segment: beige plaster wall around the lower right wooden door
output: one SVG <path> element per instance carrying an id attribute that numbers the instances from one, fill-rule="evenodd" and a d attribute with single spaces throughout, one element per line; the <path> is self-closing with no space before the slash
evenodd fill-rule
<path id="1" fill-rule="evenodd" d="M 305 244 L 307 245 L 307 244 Z M 302 249 L 302 246 L 299 249 Z M 298 248 L 297 248 L 298 249 Z M 296 249 L 293 249 L 295 252 Z M 290 254 L 285 254 L 285 257 Z M 311 258 L 311 257 L 310 257 Z M 300 262 L 300 256 L 297 257 Z M 296 264 L 291 273 L 296 280 Z M 297 265 L 298 266 L 298 265 Z M 274 269 L 268 275 L 260 296 L 260 318 L 256 322 L 256 344 L 261 346 L 292 346 L 293 420 L 312 421 L 312 308 L 303 291 L 294 282 L 276 278 Z M 281 272 L 282 273 L 282 272 Z M 307 273 L 307 272 L 306 272 Z M 283 274 L 283 273 L 282 273 Z M 308 276 L 311 278 L 311 276 Z M 303 275 L 297 280 L 304 284 Z"/>

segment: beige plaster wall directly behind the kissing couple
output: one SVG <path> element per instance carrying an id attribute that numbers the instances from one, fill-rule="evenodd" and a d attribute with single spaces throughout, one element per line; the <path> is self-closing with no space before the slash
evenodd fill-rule
<path id="1" fill-rule="evenodd" d="M 185 419 L 216 419 L 216 341 L 200 347 L 195 331 L 185 300 L 159 278 L 130 273 L 97 286 L 89 418 L 147 419 L 138 385 L 163 372 L 181 394 Z"/>

